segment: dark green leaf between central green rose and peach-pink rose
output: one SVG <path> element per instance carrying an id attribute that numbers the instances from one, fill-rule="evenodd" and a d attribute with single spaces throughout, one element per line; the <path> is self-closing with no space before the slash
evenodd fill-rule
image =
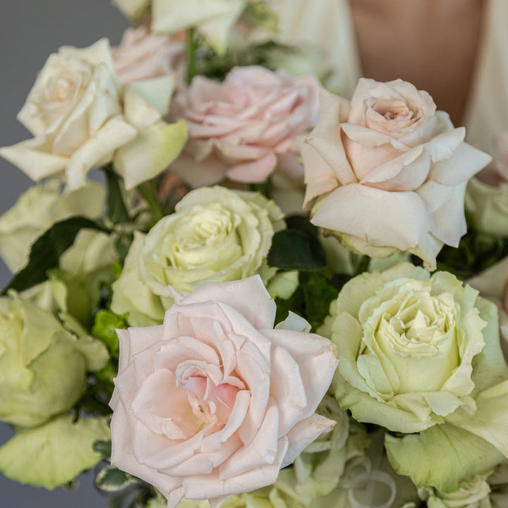
<path id="1" fill-rule="evenodd" d="M 267 261 L 282 270 L 322 270 L 327 265 L 325 249 L 317 238 L 298 229 L 274 234 Z"/>

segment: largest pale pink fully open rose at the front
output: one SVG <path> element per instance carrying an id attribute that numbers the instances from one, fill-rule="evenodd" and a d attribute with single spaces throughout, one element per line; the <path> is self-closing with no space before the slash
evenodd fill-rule
<path id="1" fill-rule="evenodd" d="M 337 367 L 327 339 L 294 314 L 274 328 L 258 275 L 174 291 L 164 324 L 117 330 L 111 464 L 182 499 L 274 483 L 334 422 L 314 413 Z"/>

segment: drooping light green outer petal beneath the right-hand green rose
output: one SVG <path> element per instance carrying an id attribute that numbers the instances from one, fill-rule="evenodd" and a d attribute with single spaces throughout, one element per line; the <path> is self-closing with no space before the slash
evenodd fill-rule
<path id="1" fill-rule="evenodd" d="M 441 492 L 455 492 L 464 480 L 504 461 L 492 444 L 448 423 L 401 439 L 386 435 L 385 447 L 397 473 L 410 476 L 417 487 L 431 485 Z"/>

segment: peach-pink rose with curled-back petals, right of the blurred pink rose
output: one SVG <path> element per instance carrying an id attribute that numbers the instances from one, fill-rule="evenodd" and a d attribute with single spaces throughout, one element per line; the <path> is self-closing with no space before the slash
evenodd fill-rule
<path id="1" fill-rule="evenodd" d="M 351 102 L 324 90 L 320 99 L 302 147 L 311 222 L 360 253 L 407 250 L 434 270 L 442 246 L 466 232 L 466 183 L 491 157 L 411 83 L 362 78 Z"/>

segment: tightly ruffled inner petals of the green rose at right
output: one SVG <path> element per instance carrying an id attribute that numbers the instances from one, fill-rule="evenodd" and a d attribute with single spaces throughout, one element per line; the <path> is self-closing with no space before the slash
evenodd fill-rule
<path id="1" fill-rule="evenodd" d="M 358 365 L 367 373 L 364 365 L 377 364 L 385 373 L 370 381 L 377 392 L 438 391 L 460 363 L 452 294 L 433 295 L 430 284 L 418 282 L 366 303 L 371 314 Z"/>

